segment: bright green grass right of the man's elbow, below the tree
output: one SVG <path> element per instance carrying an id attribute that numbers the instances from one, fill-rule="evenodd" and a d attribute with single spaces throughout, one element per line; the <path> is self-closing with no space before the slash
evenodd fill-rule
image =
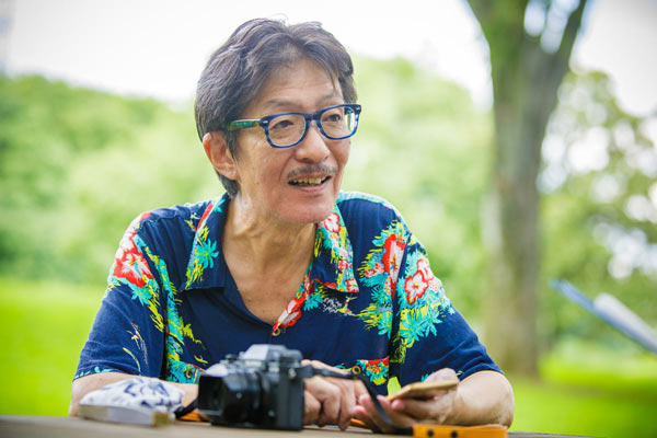
<path id="1" fill-rule="evenodd" d="M 510 377 L 511 430 L 657 437 L 657 357 L 629 347 L 565 342 L 542 361 L 541 381 Z"/>

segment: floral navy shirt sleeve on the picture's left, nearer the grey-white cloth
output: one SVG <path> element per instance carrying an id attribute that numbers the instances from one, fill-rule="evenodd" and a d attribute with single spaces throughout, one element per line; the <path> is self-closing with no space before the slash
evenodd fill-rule
<path id="1" fill-rule="evenodd" d="M 140 231 L 148 216 L 135 219 L 120 241 L 73 379 L 107 371 L 160 376 L 164 345 L 161 288 Z"/>

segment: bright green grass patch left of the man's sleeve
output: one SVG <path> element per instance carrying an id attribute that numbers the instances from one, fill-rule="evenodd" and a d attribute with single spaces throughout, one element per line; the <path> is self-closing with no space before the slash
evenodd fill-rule
<path id="1" fill-rule="evenodd" d="M 0 279 L 0 414 L 67 414 L 71 379 L 102 295 L 102 286 Z"/>

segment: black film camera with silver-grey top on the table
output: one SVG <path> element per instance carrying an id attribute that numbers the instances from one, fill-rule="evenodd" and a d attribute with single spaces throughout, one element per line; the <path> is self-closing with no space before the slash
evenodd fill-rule
<path id="1" fill-rule="evenodd" d="M 198 381 L 198 411 L 214 425 L 300 430 L 303 379 L 312 368 L 283 345 L 252 345 L 229 355 Z"/>

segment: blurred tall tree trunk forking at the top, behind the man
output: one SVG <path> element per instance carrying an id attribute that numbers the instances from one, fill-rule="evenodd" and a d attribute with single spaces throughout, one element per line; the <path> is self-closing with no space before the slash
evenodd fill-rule
<path id="1" fill-rule="evenodd" d="M 483 219 L 485 339 L 509 371 L 537 372 L 541 146 L 586 0 L 469 0 L 491 53 L 495 155 Z"/>

